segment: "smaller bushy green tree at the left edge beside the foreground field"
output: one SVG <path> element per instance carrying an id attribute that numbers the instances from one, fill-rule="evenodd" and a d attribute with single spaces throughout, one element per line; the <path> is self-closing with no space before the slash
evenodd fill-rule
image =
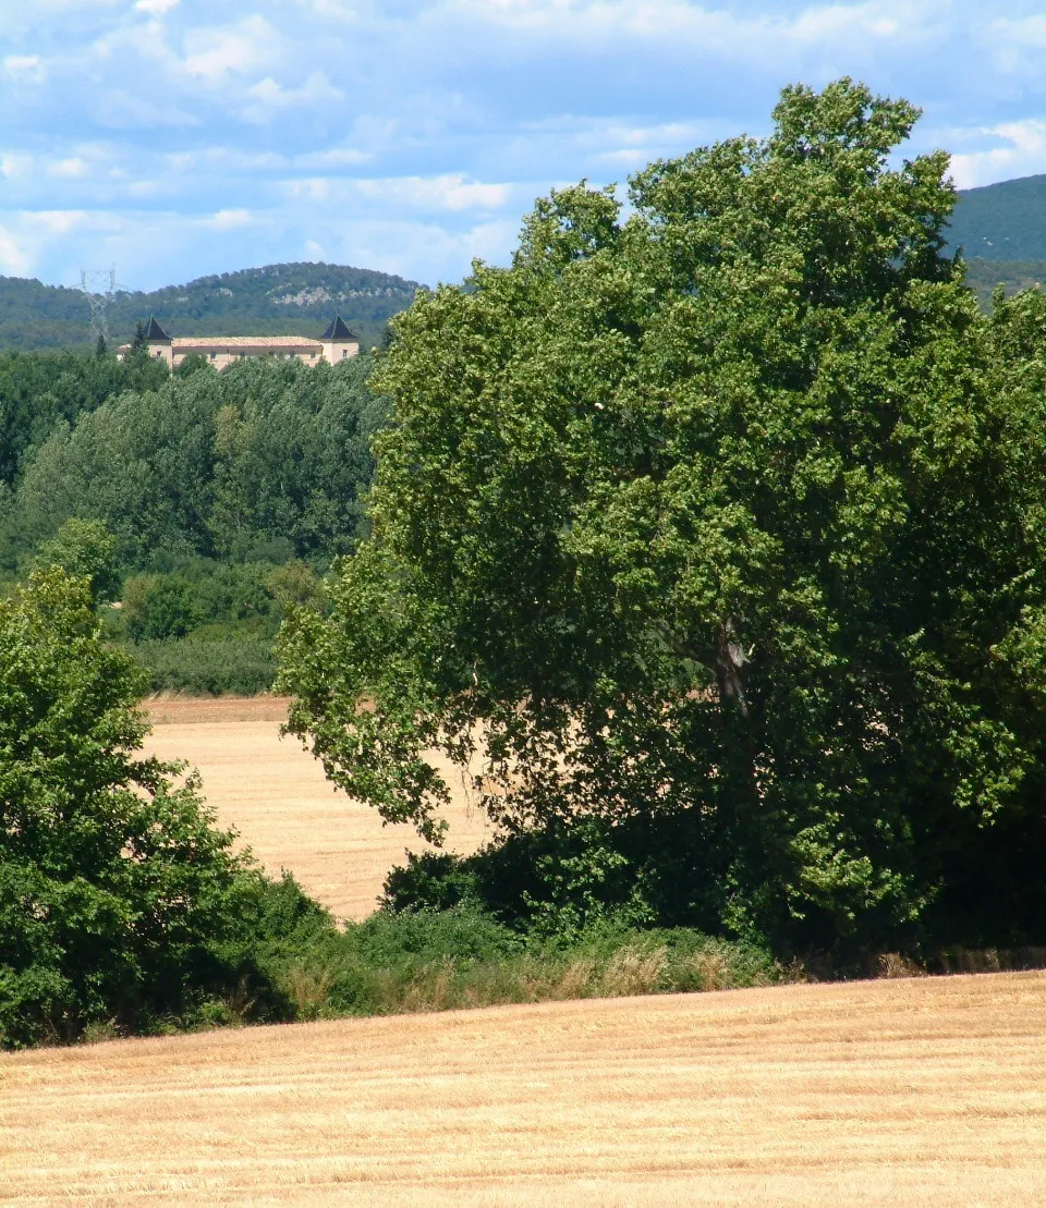
<path id="1" fill-rule="evenodd" d="M 140 673 L 100 640 L 85 579 L 0 600 L 0 1045 L 143 1029 L 234 977 L 220 954 L 260 883 L 198 784 L 141 757 Z"/>

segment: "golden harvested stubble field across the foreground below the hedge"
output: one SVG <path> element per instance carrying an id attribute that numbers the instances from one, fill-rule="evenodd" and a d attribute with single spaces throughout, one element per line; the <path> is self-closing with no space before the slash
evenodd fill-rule
<path id="1" fill-rule="evenodd" d="M 0 1203 L 1046 1203 L 1046 975 L 0 1057 Z"/>

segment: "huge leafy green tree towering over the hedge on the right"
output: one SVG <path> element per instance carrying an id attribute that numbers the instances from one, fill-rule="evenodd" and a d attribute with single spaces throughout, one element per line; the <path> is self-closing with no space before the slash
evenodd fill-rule
<path id="1" fill-rule="evenodd" d="M 943 255 L 917 116 L 788 88 L 396 320 L 372 538 L 284 637 L 329 776 L 437 835 L 442 748 L 585 836 L 559 890 L 783 945 L 1041 925 L 1041 332 Z"/>

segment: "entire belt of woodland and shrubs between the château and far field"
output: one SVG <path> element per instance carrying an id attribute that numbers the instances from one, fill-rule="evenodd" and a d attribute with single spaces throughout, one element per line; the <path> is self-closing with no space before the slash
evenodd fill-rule
<path id="1" fill-rule="evenodd" d="M 384 417 L 368 372 L 0 355 L 0 575 L 107 551 L 107 632 L 147 686 L 267 689 L 284 606 L 361 529 Z"/>

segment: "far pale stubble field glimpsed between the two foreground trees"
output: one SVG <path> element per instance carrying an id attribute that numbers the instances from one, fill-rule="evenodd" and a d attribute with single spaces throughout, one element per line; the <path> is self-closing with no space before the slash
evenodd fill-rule
<path id="1" fill-rule="evenodd" d="M 336 791 L 297 738 L 280 738 L 280 697 L 174 698 L 146 702 L 146 749 L 199 768 L 203 791 L 223 826 L 234 826 L 273 873 L 289 869 L 336 918 L 365 918 L 403 852 L 426 848 L 406 825 L 384 826 L 368 806 Z M 438 762 L 438 760 L 436 761 Z M 454 794 L 447 849 L 473 852 L 487 836 L 460 772 L 446 761 Z"/>

